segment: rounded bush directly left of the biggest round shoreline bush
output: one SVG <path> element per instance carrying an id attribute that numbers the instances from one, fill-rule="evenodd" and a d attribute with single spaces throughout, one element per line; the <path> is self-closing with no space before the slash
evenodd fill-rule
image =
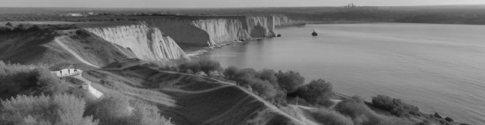
<path id="1" fill-rule="evenodd" d="M 276 74 L 278 83 L 283 86 L 288 92 L 294 92 L 298 86 L 302 85 L 305 81 L 305 77 L 300 73 L 289 70 L 287 72 L 278 71 Z"/>

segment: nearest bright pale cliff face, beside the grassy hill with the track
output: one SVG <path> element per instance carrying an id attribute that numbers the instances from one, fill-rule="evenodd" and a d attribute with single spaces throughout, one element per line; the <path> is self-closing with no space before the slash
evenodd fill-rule
<path id="1" fill-rule="evenodd" d="M 84 28 L 106 41 L 130 49 L 140 59 L 188 59 L 185 52 L 158 28 L 146 24 Z"/>

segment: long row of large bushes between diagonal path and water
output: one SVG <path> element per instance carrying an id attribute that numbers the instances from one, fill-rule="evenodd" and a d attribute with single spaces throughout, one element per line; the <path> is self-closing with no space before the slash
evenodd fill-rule
<path id="1" fill-rule="evenodd" d="M 304 102 L 321 105 L 328 104 L 329 99 L 334 95 L 330 82 L 318 79 L 303 85 L 305 78 L 299 72 L 292 70 L 275 72 L 272 69 L 262 69 L 257 71 L 253 68 L 238 69 L 235 66 L 229 66 L 224 69 L 223 74 L 225 78 L 234 80 L 239 85 L 251 86 L 253 91 L 262 97 L 273 98 L 273 100 L 285 104 L 287 93 L 303 98 L 306 100 Z"/>

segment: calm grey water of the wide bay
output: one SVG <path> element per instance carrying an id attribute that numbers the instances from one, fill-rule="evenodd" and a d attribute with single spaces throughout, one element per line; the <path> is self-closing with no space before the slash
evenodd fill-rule
<path id="1" fill-rule="evenodd" d="M 313 28 L 319 36 L 310 36 Z M 485 124 L 485 26 L 322 24 L 277 28 L 282 37 L 214 48 L 223 66 L 296 70 L 335 91 L 390 95 L 458 121 Z"/>

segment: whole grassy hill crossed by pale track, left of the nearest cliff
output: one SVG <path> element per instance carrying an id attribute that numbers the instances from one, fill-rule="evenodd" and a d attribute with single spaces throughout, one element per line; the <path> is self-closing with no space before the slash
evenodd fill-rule
<path id="1" fill-rule="evenodd" d="M 57 41 L 66 44 L 84 60 L 95 65 L 107 65 L 116 60 L 135 57 L 129 49 L 90 33 L 76 33 L 77 30 L 73 25 L 62 24 L 40 25 L 36 30 L 19 29 L 0 33 L 0 60 L 48 65 L 60 62 L 81 63 Z"/>

